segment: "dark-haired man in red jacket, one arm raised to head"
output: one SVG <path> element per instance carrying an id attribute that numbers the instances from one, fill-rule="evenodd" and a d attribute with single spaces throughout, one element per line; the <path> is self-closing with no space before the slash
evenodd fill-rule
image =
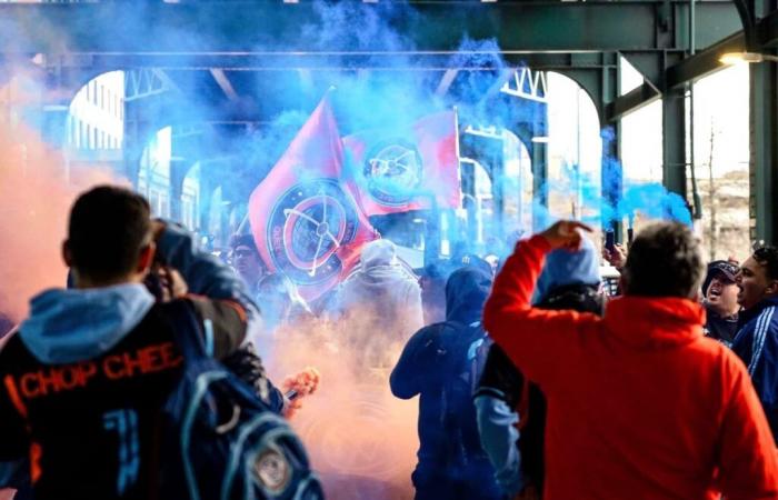
<path id="1" fill-rule="evenodd" d="M 545 256 L 580 222 L 518 243 L 483 312 L 487 331 L 548 399 L 546 500 L 778 498 L 778 460 L 745 367 L 702 336 L 691 231 L 644 230 L 605 317 L 535 309 Z"/>

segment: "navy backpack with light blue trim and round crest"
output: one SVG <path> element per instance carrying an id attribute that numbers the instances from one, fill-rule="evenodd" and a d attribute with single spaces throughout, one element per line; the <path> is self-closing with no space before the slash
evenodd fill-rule
<path id="1" fill-rule="evenodd" d="M 209 356 L 210 322 L 203 332 L 187 302 L 169 306 L 186 328 L 174 329 L 183 367 L 161 414 L 159 498 L 322 499 L 287 421 Z"/>

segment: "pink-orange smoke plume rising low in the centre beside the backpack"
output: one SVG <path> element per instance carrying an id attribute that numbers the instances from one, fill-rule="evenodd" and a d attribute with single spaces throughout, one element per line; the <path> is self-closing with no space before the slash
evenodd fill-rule
<path id="1" fill-rule="evenodd" d="M 306 366 L 321 373 L 316 393 L 305 398 L 291 423 L 327 498 L 412 498 L 418 400 L 401 401 L 389 390 L 401 344 L 382 342 L 381 332 L 361 330 L 360 334 L 378 339 L 385 353 L 381 362 L 370 363 L 363 344 L 357 348 L 348 339 L 347 330 L 353 332 L 366 322 L 308 321 L 277 332 L 269 372 L 275 380 Z"/>

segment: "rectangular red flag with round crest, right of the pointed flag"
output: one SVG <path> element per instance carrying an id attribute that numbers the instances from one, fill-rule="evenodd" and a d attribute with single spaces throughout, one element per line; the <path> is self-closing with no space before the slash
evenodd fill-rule
<path id="1" fill-rule="evenodd" d="M 368 216 L 460 204 L 455 111 L 428 114 L 403 130 L 343 138 L 349 184 Z"/>

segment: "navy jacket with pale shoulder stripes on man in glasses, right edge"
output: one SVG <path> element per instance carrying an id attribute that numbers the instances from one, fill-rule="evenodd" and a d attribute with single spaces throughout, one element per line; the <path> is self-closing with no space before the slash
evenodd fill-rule
<path id="1" fill-rule="evenodd" d="M 778 298 L 765 299 L 741 311 L 732 350 L 751 376 L 754 388 L 778 443 Z"/>

